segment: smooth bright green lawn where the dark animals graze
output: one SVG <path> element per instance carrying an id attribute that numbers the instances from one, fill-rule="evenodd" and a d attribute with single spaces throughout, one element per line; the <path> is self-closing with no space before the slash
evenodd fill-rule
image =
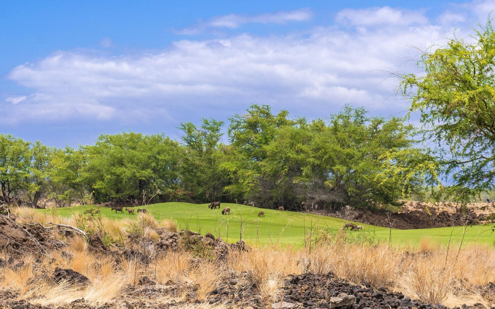
<path id="1" fill-rule="evenodd" d="M 91 205 L 74 206 L 56 209 L 56 213 L 62 216 L 72 216 Z M 230 215 L 222 215 L 221 209 L 230 207 Z M 184 202 L 168 202 L 151 204 L 145 207 L 156 219 L 172 219 L 177 222 L 179 229 L 191 229 L 202 234 L 211 232 L 220 235 L 223 240 L 235 242 L 240 237 L 241 223 L 243 225 L 242 238 L 251 243 L 280 243 L 286 245 L 303 246 L 304 234 L 313 230 L 313 241 L 316 230 L 324 230 L 336 233 L 344 224 L 344 220 L 329 216 L 318 216 L 303 214 L 292 211 L 276 211 L 273 209 L 262 209 L 234 203 L 222 203 L 220 208 L 209 209 L 208 204 L 192 204 Z M 136 217 L 125 213 L 115 213 L 110 208 L 101 207 L 104 216 L 115 219 L 128 219 Z M 262 210 L 264 217 L 258 217 Z M 39 211 L 47 211 L 40 209 Z M 357 223 L 357 222 L 356 222 Z M 355 238 L 356 241 L 373 241 L 388 243 L 390 230 L 385 227 L 363 225 L 362 231 L 348 231 L 346 237 Z M 458 245 L 463 235 L 462 226 L 426 228 L 426 229 L 391 229 L 391 242 L 394 245 L 418 246 L 424 238 L 435 245 L 447 245 L 449 238 L 451 245 Z M 452 236 L 450 237 L 450 233 Z M 493 244 L 495 234 L 491 227 L 486 225 L 468 226 L 464 235 L 464 244 L 481 243 Z"/>

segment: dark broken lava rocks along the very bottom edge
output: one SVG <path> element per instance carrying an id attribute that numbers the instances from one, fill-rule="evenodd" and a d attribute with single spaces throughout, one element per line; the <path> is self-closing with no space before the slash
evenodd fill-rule
<path id="1" fill-rule="evenodd" d="M 69 277 L 79 278 L 80 274 L 69 273 Z M 245 275 L 245 274 L 244 274 Z M 165 295 L 173 295 L 173 284 L 157 285 L 153 282 L 140 282 L 138 285 L 128 285 L 122 290 L 118 299 L 98 306 L 90 305 L 83 298 L 61 305 L 39 305 L 29 300 L 17 300 L 17 294 L 11 290 L 0 291 L 0 308 L 14 309 L 52 309 L 52 308 L 183 308 L 193 305 L 202 307 L 222 307 L 257 309 L 257 308 L 409 308 L 429 309 L 447 308 L 442 304 L 422 303 L 411 299 L 402 293 L 393 293 L 385 288 L 372 289 L 370 287 L 354 285 L 334 277 L 332 273 L 315 275 L 304 273 L 291 275 L 283 283 L 283 295 L 280 299 L 267 302 L 261 299 L 256 286 L 245 286 L 239 277 L 229 278 L 221 282 L 220 287 L 214 289 L 204 301 L 194 299 L 194 288 L 190 290 L 192 301 L 176 301 L 173 297 L 163 299 Z M 74 282 L 76 284 L 76 282 Z M 480 291 L 493 292 L 493 283 L 480 286 Z M 462 305 L 455 308 L 485 308 L 482 304 L 472 306 Z"/>

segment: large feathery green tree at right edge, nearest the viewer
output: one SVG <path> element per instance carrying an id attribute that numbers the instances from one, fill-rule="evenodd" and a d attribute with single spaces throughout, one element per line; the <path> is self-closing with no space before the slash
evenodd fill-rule
<path id="1" fill-rule="evenodd" d="M 468 201 L 495 187 L 495 32 L 491 19 L 471 40 L 454 37 L 424 51 L 425 74 L 401 75 L 400 89 L 419 111 L 425 138 L 449 183 L 440 194 Z"/>

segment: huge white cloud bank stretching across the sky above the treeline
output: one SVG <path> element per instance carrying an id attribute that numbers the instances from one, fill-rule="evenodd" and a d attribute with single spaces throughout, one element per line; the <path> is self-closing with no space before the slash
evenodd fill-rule
<path id="1" fill-rule="evenodd" d="M 230 25 L 289 20 L 261 16 L 233 18 Z M 14 105 L 14 97 L 5 100 L 10 107 L 2 108 L 7 111 L 0 119 L 127 121 L 129 114 L 149 120 L 180 114 L 184 121 L 191 120 L 191 112 L 200 117 L 206 110 L 215 117 L 227 112 L 225 119 L 252 102 L 309 117 L 324 117 L 351 102 L 386 115 L 400 112 L 405 103 L 390 98 L 396 80 L 384 80 L 382 70 L 417 71 L 413 61 L 406 61 L 417 53 L 410 46 L 442 44 L 453 31 L 449 24 L 431 23 L 422 12 L 386 6 L 342 10 L 336 22 L 301 35 L 179 40 L 167 49 L 132 56 L 59 51 L 11 70 L 8 78 L 35 95 Z"/>

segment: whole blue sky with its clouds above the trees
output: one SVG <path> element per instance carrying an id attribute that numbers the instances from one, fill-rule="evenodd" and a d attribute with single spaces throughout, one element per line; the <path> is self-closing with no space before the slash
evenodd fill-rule
<path id="1" fill-rule="evenodd" d="M 431 3 L 433 2 L 433 3 Z M 48 145 L 227 121 L 251 103 L 326 117 L 345 103 L 403 115 L 418 48 L 466 37 L 474 1 L 0 0 L 0 133 Z"/>

